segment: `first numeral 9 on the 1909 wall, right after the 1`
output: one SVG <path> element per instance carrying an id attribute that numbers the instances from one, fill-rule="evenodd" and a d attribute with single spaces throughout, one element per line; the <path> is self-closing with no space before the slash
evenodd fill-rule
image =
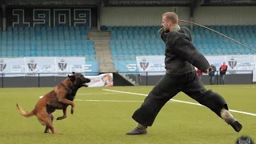
<path id="1" fill-rule="evenodd" d="M 50 26 L 50 9 L 34 9 L 33 22 L 33 26 Z"/>

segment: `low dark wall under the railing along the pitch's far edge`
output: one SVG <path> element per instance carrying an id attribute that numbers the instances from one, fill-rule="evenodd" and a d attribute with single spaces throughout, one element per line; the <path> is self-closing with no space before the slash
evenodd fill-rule
<path id="1" fill-rule="evenodd" d="M 130 78 L 138 82 L 138 86 L 154 86 L 156 82 L 162 78 L 159 76 L 140 76 L 130 74 Z M 65 77 L 2 77 L 0 75 L 0 89 L 6 87 L 53 87 L 58 85 L 59 82 Z M 127 82 L 125 78 L 122 78 L 118 73 L 113 73 L 114 86 L 132 86 L 130 82 Z M 217 78 L 218 79 L 218 78 Z M 252 74 L 227 74 L 226 85 L 242 85 L 242 84 L 255 84 L 252 82 Z M 209 85 L 209 76 L 203 75 L 202 82 Z M 215 83 L 219 85 L 218 80 Z"/>

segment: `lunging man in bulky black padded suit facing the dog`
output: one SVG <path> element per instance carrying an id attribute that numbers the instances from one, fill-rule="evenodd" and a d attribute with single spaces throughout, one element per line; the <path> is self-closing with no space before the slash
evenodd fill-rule
<path id="1" fill-rule="evenodd" d="M 162 106 L 181 91 L 208 107 L 239 132 L 242 125 L 230 114 L 225 99 L 213 90 L 206 90 L 198 78 L 195 67 L 206 74 L 212 69 L 206 58 L 192 44 L 190 30 L 178 26 L 177 14 L 166 12 L 162 15 L 162 29 L 159 31 L 166 43 L 166 74 L 150 91 L 142 105 L 134 111 L 132 118 L 138 122 L 138 126 L 126 134 L 147 134 L 147 127 L 153 125 Z"/>

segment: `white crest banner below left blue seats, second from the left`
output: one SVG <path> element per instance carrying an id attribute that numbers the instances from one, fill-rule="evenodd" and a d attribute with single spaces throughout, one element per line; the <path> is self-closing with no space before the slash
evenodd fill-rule
<path id="1" fill-rule="evenodd" d="M 26 57 L 26 76 L 52 76 L 55 73 L 54 57 Z"/>

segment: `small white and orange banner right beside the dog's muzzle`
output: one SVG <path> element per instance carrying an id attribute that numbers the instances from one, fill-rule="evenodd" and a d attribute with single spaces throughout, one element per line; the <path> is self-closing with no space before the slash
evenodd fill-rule
<path id="1" fill-rule="evenodd" d="M 89 87 L 97 86 L 113 86 L 113 73 L 100 74 L 96 76 L 85 76 L 90 78 L 90 82 L 87 83 Z"/>

